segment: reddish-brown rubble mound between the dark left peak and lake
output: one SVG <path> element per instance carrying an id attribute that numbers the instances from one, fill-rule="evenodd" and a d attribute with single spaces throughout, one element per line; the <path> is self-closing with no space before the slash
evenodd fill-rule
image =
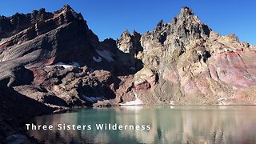
<path id="1" fill-rule="evenodd" d="M 33 69 L 33 85 L 16 86 L 15 90 L 54 106 L 92 106 L 94 102 L 115 98 L 112 74 L 106 70 L 89 74 L 87 69 L 76 66 Z"/>

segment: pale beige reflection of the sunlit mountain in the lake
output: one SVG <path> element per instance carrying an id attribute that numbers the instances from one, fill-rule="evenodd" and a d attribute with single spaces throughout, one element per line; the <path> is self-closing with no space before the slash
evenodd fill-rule
<path id="1" fill-rule="evenodd" d="M 141 110 L 131 118 L 118 115 L 121 123 L 143 124 L 149 122 L 152 129 L 145 134 L 141 131 L 122 131 L 122 134 L 136 137 L 150 143 L 255 143 L 255 110 L 248 107 L 214 107 L 190 110 L 178 108 Z M 208 109 L 207 109 L 208 108 Z M 254 114 L 251 114 L 251 113 Z"/>

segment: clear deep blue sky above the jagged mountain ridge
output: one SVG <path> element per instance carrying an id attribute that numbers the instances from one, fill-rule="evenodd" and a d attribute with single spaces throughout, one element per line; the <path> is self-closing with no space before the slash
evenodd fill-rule
<path id="1" fill-rule="evenodd" d="M 100 40 L 119 38 L 126 29 L 140 33 L 153 30 L 161 19 L 170 22 L 182 6 L 189 6 L 219 34 L 234 33 L 240 42 L 256 45 L 254 0 L 8 0 L 1 2 L 0 14 L 29 13 L 42 7 L 55 11 L 65 4 L 82 13 Z"/>

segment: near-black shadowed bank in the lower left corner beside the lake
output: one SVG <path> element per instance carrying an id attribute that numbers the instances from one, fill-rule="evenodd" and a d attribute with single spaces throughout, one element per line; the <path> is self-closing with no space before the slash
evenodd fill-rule
<path id="1" fill-rule="evenodd" d="M 29 119 L 42 114 L 50 114 L 54 109 L 19 94 L 12 88 L 0 86 L 0 142 L 10 134 L 24 133 Z"/>

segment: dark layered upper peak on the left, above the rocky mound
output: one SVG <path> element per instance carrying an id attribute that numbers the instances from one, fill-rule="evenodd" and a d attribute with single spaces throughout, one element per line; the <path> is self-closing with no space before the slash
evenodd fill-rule
<path id="1" fill-rule="evenodd" d="M 39 10 L 3 19 L 10 21 L 12 29 L 0 34 L 1 65 L 18 63 L 28 68 L 57 62 L 90 65 L 93 56 L 98 55 L 93 43 L 98 40 L 97 36 L 88 28 L 82 15 L 70 6 L 64 6 L 54 14 Z M 0 27 L 5 27 L 8 22 L 1 23 Z"/>

